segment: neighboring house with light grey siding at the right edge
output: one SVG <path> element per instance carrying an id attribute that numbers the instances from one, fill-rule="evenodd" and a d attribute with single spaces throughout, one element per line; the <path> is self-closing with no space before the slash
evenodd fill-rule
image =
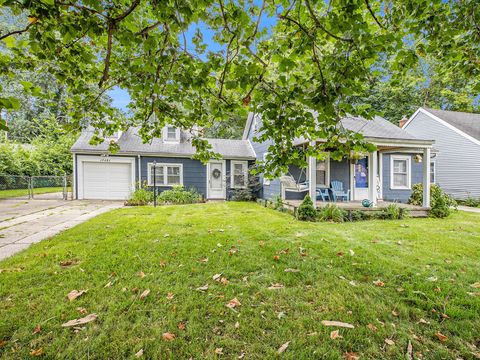
<path id="1" fill-rule="evenodd" d="M 480 198 L 480 114 L 419 108 L 403 129 L 435 140 L 432 182 L 456 199 Z"/>

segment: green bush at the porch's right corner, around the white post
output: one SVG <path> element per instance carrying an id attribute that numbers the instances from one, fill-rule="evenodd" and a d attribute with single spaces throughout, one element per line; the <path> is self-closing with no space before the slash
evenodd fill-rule
<path id="1" fill-rule="evenodd" d="M 409 204 L 419 205 L 423 204 L 423 185 L 415 184 L 412 187 L 412 194 L 408 200 Z M 451 214 L 452 208 L 457 207 L 457 202 L 447 193 L 445 193 L 440 186 L 432 184 L 430 186 L 430 213 L 431 217 L 444 218 Z"/>

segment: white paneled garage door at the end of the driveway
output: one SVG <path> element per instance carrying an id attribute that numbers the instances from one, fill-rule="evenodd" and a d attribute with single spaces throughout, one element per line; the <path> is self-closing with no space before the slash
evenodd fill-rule
<path id="1" fill-rule="evenodd" d="M 83 161 L 83 198 L 126 200 L 132 187 L 132 164 Z"/>

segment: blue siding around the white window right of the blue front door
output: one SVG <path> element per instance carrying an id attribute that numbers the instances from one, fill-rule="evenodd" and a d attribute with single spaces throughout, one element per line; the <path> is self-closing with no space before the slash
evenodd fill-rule
<path id="1" fill-rule="evenodd" d="M 414 160 L 415 154 L 405 154 L 405 153 L 389 153 L 383 154 L 383 200 L 386 201 L 396 201 L 406 203 L 410 198 L 412 190 L 397 190 L 390 188 L 391 173 L 390 173 L 390 159 L 391 155 L 407 155 L 411 157 L 412 172 L 411 172 L 411 183 L 413 184 L 423 182 L 423 163 L 417 163 Z"/>

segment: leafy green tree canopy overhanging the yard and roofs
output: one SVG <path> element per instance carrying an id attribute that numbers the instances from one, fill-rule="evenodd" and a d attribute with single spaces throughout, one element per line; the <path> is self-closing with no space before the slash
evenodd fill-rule
<path id="1" fill-rule="evenodd" d="M 395 77 L 427 55 L 456 74 L 479 75 L 476 0 L 5 0 L 4 6 L 28 18 L 0 33 L 8 48 L 1 67 L 54 74 L 73 94 L 67 111 L 77 123 L 86 114 L 106 132 L 126 126 L 111 124 L 112 107 L 98 101 L 114 86 L 129 91 L 131 122 L 145 140 L 165 123 L 208 128 L 257 111 L 261 138 L 275 143 L 264 166 L 272 175 L 325 148 L 338 149 L 337 158 L 372 148 L 335 125 L 346 113 L 374 114 L 351 97 L 365 95 L 381 59 Z M 273 26 L 263 26 L 272 18 Z M 204 33 L 213 34 L 215 46 L 207 47 Z M 298 148 L 298 136 L 325 142 Z M 192 143 L 198 158 L 214 155 L 201 138 Z"/>

